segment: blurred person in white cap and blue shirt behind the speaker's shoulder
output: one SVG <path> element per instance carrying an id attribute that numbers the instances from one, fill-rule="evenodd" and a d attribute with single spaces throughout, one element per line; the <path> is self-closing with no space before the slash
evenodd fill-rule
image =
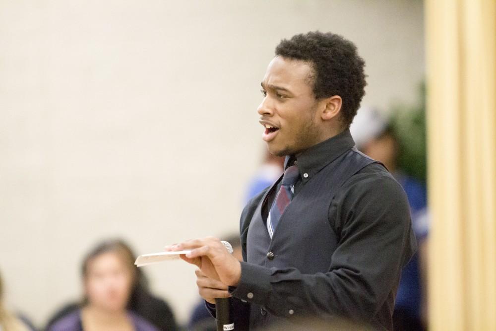
<path id="1" fill-rule="evenodd" d="M 403 268 L 393 314 L 394 330 L 425 330 L 426 251 L 428 234 L 427 193 L 424 185 L 397 167 L 401 150 L 395 130 L 384 115 L 363 107 L 350 131 L 357 148 L 382 162 L 405 190 L 412 213 L 418 252 Z"/>

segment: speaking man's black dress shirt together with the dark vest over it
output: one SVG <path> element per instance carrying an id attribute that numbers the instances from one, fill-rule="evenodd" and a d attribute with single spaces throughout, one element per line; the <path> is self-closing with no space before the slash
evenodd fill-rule
<path id="1" fill-rule="evenodd" d="M 354 145 L 346 130 L 287 157 L 300 179 L 272 239 L 263 231 L 280 179 L 248 202 L 245 262 L 230 288 L 236 330 L 342 318 L 392 330 L 401 268 L 416 249 L 409 205 L 387 169 Z"/>

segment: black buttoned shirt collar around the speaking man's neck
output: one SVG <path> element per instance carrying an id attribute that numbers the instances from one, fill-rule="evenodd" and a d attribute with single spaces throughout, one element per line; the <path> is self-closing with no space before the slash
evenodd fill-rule
<path id="1" fill-rule="evenodd" d="M 297 155 L 286 156 L 284 169 L 294 164 L 298 165 L 302 181 L 306 183 L 322 170 L 323 167 L 334 161 L 338 156 L 355 146 L 350 130 L 345 131 L 319 142 Z"/>

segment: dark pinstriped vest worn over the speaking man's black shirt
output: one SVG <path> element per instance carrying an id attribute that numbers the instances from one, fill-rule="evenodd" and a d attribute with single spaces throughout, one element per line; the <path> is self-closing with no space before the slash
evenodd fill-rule
<path id="1" fill-rule="evenodd" d="M 245 261 L 278 269 L 294 267 L 306 274 L 328 272 L 340 240 L 334 230 L 335 220 L 328 216 L 331 201 L 350 177 L 374 162 L 356 148 L 338 156 L 295 195 L 271 240 L 262 217 L 262 206 L 269 195 L 275 194 L 281 176 L 268 190 L 250 201 L 257 207 L 243 215 L 240 232 Z M 324 185 L 326 190 L 322 190 Z M 325 194 L 317 196 L 314 192 Z M 250 329 L 263 328 L 276 321 L 281 323 L 283 320 L 266 312 L 264 307 L 251 305 Z"/>

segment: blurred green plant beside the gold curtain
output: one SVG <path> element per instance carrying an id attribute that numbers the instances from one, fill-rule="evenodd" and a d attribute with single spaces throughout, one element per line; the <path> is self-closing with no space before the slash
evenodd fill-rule
<path id="1" fill-rule="evenodd" d="M 399 140 L 398 168 L 423 183 L 427 177 L 426 154 L 426 87 L 419 87 L 419 99 L 414 105 L 396 104 L 392 107 L 391 123 Z"/>

